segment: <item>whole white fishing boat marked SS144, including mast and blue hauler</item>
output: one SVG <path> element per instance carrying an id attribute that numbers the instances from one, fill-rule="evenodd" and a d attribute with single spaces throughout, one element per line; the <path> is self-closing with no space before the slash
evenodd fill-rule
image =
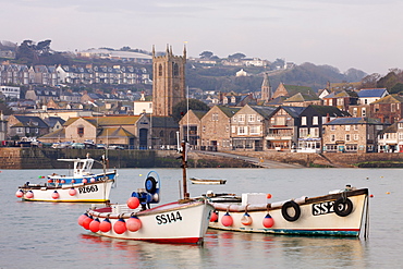
<path id="1" fill-rule="evenodd" d="M 184 144 L 182 149 L 184 149 Z M 131 194 L 126 204 L 90 208 L 78 224 L 98 235 L 156 243 L 202 244 L 213 207 L 206 198 L 190 198 L 186 185 L 186 150 L 182 150 L 183 197 L 151 208 L 160 201 L 161 180 L 157 172 L 146 175 L 145 188 Z"/>

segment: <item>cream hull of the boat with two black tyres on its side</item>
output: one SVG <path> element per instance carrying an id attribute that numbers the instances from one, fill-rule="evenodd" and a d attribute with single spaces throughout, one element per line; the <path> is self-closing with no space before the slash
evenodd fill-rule
<path id="1" fill-rule="evenodd" d="M 340 212 L 340 209 L 338 209 L 345 205 L 340 205 L 345 199 L 352 203 L 350 213 L 347 211 Z M 359 236 L 363 217 L 365 210 L 368 210 L 368 189 L 363 188 L 314 198 L 304 197 L 295 201 L 297 204 L 295 207 L 300 209 L 298 216 L 295 213 L 296 210 L 290 206 L 290 203 L 285 207 L 286 210 L 282 210 L 286 201 L 277 205 L 248 205 L 247 208 L 235 204 L 213 203 L 218 219 L 210 222 L 209 228 L 292 235 Z M 345 216 L 339 216 L 334 212 L 333 205 L 337 201 L 339 204 L 338 213 Z M 245 221 L 244 217 L 246 210 L 249 216 L 248 221 Z M 291 213 L 289 213 L 289 210 L 291 210 Z M 223 218 L 229 218 L 224 217 L 225 212 L 232 218 L 231 225 L 228 222 L 227 225 L 222 223 Z M 268 213 L 272 218 L 272 222 L 265 227 L 264 219 Z M 246 224 L 243 224 L 242 221 Z M 252 223 L 249 223 L 251 221 Z"/>

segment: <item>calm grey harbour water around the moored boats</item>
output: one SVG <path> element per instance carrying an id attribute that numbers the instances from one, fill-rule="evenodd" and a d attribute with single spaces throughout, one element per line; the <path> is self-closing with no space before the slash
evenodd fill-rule
<path id="1" fill-rule="evenodd" d="M 119 170 L 112 203 L 144 186 L 149 170 Z M 179 197 L 180 169 L 155 169 L 162 203 Z M 398 268 L 403 261 L 402 169 L 190 169 L 188 176 L 227 185 L 188 185 L 196 196 L 265 192 L 272 201 L 317 196 L 345 184 L 369 187 L 369 240 L 298 237 L 209 230 L 203 246 L 120 241 L 91 235 L 76 222 L 86 204 L 27 203 L 14 194 L 46 170 L 2 170 L 0 268 Z M 56 172 L 63 172 L 59 170 Z M 65 172 L 65 171 L 64 171 Z"/>

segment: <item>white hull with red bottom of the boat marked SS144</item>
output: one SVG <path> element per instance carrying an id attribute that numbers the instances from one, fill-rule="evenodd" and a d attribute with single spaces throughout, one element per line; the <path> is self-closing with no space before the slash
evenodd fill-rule
<path id="1" fill-rule="evenodd" d="M 206 201 L 191 201 L 185 204 L 171 203 L 152 209 L 136 211 L 126 205 L 112 205 L 111 209 L 89 210 L 88 215 L 103 221 L 109 218 L 112 229 L 108 232 L 98 231 L 97 234 L 122 240 L 137 240 L 157 243 L 200 244 L 206 234 L 212 206 Z M 135 215 L 142 228 L 136 232 L 126 230 L 118 234 L 113 227 L 123 219 Z"/>

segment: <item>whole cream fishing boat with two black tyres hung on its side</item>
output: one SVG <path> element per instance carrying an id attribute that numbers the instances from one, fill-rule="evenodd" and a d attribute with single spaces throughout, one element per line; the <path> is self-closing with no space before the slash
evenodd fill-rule
<path id="1" fill-rule="evenodd" d="M 209 228 L 292 235 L 368 234 L 368 189 L 347 185 L 318 197 L 268 203 L 267 194 L 242 194 L 241 203 L 212 203 Z"/>

